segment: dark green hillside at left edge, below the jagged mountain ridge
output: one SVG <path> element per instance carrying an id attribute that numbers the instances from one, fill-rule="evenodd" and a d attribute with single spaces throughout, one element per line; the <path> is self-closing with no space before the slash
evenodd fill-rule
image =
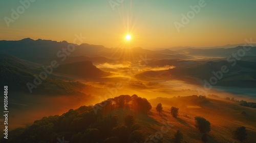
<path id="1" fill-rule="evenodd" d="M 11 92 L 17 92 L 17 96 L 30 93 L 27 83 L 34 84 L 35 77 L 44 70 L 42 68 L 30 67 L 22 63 L 19 59 L 10 55 L 0 55 L 0 80 L 1 86 L 8 86 Z M 79 82 L 69 82 L 54 75 L 48 75 L 47 79 L 42 80 L 41 84 L 33 88 L 33 94 L 48 94 L 48 95 L 84 95 L 79 88 L 86 85 Z M 15 99 L 15 97 L 13 97 Z"/>

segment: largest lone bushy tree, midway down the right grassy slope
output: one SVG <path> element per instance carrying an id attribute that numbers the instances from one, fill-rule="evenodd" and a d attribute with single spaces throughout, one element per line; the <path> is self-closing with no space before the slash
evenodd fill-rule
<path id="1" fill-rule="evenodd" d="M 210 122 L 207 121 L 204 117 L 196 116 L 196 125 L 195 127 L 200 130 L 202 133 L 206 133 L 210 131 Z"/>

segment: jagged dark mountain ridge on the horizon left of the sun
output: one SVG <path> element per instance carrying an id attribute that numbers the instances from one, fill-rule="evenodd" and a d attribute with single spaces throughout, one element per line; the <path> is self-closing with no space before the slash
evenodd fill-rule
<path id="1" fill-rule="evenodd" d="M 9 54 L 26 60 L 30 60 L 38 63 L 48 63 L 51 59 L 57 59 L 57 53 L 62 51 L 62 49 L 67 49 L 67 41 L 57 42 L 52 40 L 33 40 L 30 38 L 25 38 L 18 41 L 0 41 L 0 53 Z M 76 44 L 74 44 L 76 45 Z M 76 45 L 75 50 L 70 56 L 84 56 L 90 55 L 90 57 L 99 57 L 97 52 L 107 50 L 108 48 L 102 45 L 90 45 L 81 44 Z M 60 54 L 62 54 L 61 52 Z M 92 54 L 92 55 L 91 55 Z M 66 55 L 69 56 L 69 55 Z"/>

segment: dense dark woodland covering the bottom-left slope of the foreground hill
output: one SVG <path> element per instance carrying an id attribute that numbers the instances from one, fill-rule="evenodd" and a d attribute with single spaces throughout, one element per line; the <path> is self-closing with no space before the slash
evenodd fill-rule
<path id="1" fill-rule="evenodd" d="M 124 117 L 118 124 L 119 116 L 95 114 L 91 106 L 81 106 L 62 115 L 43 117 L 26 128 L 8 133 L 8 140 L 0 142 L 57 142 L 57 138 L 76 143 L 83 142 L 142 142 L 145 134 L 132 115 Z"/>

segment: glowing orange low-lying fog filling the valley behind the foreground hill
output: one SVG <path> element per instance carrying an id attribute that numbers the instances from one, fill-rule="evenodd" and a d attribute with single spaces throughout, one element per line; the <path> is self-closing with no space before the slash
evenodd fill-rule
<path id="1" fill-rule="evenodd" d="M 154 99 L 157 97 L 174 97 L 174 96 L 190 96 L 200 94 L 203 86 L 189 84 L 181 80 L 172 79 L 137 79 L 135 76 L 148 70 L 165 70 L 174 68 L 175 66 L 163 66 L 150 68 L 144 65 L 132 66 L 131 64 L 98 64 L 98 68 L 109 71 L 113 75 L 99 79 L 75 79 L 76 81 L 90 85 L 85 89 L 81 89 L 84 93 L 90 94 L 92 97 L 75 97 L 75 96 L 34 96 L 27 95 L 22 101 L 13 102 L 17 105 L 10 111 L 10 128 L 25 127 L 26 124 L 32 124 L 35 120 L 44 116 L 55 115 L 67 112 L 69 109 L 75 109 L 82 105 L 96 104 L 103 100 L 114 98 L 120 94 L 137 94 L 140 97 Z M 199 90 L 198 90 L 199 89 Z M 223 87 L 218 87 L 223 89 Z M 230 89 L 231 91 L 232 89 Z M 239 89 L 233 89 L 239 90 Z M 246 90 L 243 90 L 246 91 Z M 253 89 L 255 91 L 255 89 Z M 224 92 L 221 90 L 211 89 L 205 93 L 216 94 L 222 98 L 232 98 L 237 100 L 247 100 L 255 102 L 253 96 L 246 96 L 242 93 L 233 94 L 233 92 Z M 253 93 L 252 93 L 253 94 Z M 22 108 L 20 108 L 22 107 Z"/>

